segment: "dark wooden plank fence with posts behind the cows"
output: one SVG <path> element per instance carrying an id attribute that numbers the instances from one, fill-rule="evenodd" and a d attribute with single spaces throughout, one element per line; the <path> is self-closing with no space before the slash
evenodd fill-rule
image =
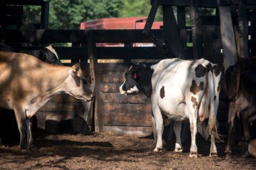
<path id="1" fill-rule="evenodd" d="M 83 63 L 88 80 L 94 87 L 96 102 L 95 106 L 90 104 L 91 114 L 88 114 L 88 103 L 71 99 L 67 95 L 58 95 L 46 103 L 37 114 L 38 120 L 42 121 L 40 122 L 42 128 L 45 126 L 46 117 L 51 117 L 49 114 L 53 114 L 53 117 L 59 116 L 60 119 L 86 116 L 86 120 L 89 124 L 94 124 L 96 131 L 151 134 L 152 111 L 149 99 L 143 94 L 135 96 L 119 94 L 119 86 L 124 81 L 123 75 L 132 64 L 127 61 L 132 59 L 161 60 L 175 56 L 186 59 L 206 58 L 211 62 L 218 63 L 222 68 L 220 98 L 225 95 L 226 62 L 228 61 L 228 65 L 230 65 L 231 59 L 236 58 L 236 54 L 238 56 L 245 54 L 244 48 L 241 48 L 241 46 L 246 47 L 243 44 L 245 41 L 248 42 L 249 56 L 256 52 L 255 1 L 247 0 L 242 5 L 238 4 L 239 7 L 244 7 L 243 10 L 241 8 L 239 10 L 245 12 L 251 23 L 246 28 L 239 28 L 238 32 L 233 30 L 232 23 L 236 23 L 237 19 L 241 17 L 245 19 L 245 15 L 232 13 L 230 7 L 237 6 L 237 4 L 231 1 L 152 1 L 150 15 L 156 13 L 158 5 L 162 5 L 164 9 L 164 27 L 160 30 L 149 29 L 150 32 L 145 32 L 145 30 L 5 30 L 4 40 L 7 44 L 20 46 L 25 43 L 26 46 L 22 48 L 27 49 L 39 48 L 38 46 L 46 43 L 71 43 L 70 47 L 55 46 L 55 49 L 61 59 Z M 172 6 L 177 6 L 177 22 Z M 185 7 L 191 7 L 191 27 L 185 26 Z M 216 14 L 199 15 L 201 7 L 215 8 Z M 153 21 L 152 17 L 149 18 L 146 28 L 150 28 L 150 24 L 154 21 L 154 17 Z M 243 19 L 238 19 L 238 21 L 244 22 Z M 146 31 L 149 30 L 146 29 Z M 248 32 L 249 40 L 241 32 Z M 227 39 L 228 37 L 230 39 Z M 227 48 L 226 43 L 223 43 L 225 41 L 231 44 L 232 48 Z M 127 44 L 141 42 L 154 42 L 156 46 L 127 46 Z M 123 47 L 97 47 L 97 43 L 122 43 L 125 45 Z M 187 44 L 193 44 L 193 46 L 187 46 Z M 164 52 L 165 47 L 167 52 Z M 236 48 L 242 51 L 238 51 Z M 98 59 L 121 59 L 125 62 L 98 63 Z M 87 63 L 87 60 L 90 60 L 90 64 Z M 223 122 L 222 127 L 226 126 L 226 117 L 227 105 L 220 101 L 218 120 L 220 123 Z M 226 130 L 226 128 L 222 129 Z"/>

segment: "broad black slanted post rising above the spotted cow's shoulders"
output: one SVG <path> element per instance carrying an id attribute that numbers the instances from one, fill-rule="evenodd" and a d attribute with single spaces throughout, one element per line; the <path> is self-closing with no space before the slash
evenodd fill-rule
<path id="1" fill-rule="evenodd" d="M 174 17 L 172 6 L 163 6 L 163 20 L 164 42 L 168 50 L 174 54 L 174 57 L 184 59 L 185 49 L 183 48 L 183 43 L 179 34 L 179 28 Z"/>

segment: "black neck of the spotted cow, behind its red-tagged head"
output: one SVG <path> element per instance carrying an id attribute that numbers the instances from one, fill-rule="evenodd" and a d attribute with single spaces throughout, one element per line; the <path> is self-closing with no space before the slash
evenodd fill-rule
<path id="1" fill-rule="evenodd" d="M 144 93 L 147 97 L 151 97 L 152 93 L 152 75 L 154 73 L 154 70 L 152 70 L 150 67 L 146 67 L 146 69 L 141 69 L 141 72 L 139 73 L 139 83 L 137 83 L 137 88 L 139 91 Z"/>

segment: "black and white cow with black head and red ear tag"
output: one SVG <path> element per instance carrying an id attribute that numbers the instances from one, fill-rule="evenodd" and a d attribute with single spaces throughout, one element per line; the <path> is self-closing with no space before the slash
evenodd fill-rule
<path id="1" fill-rule="evenodd" d="M 189 157 L 197 157 L 195 136 L 197 124 L 208 119 L 207 134 L 211 135 L 210 156 L 217 155 L 215 138 L 216 114 L 219 104 L 221 73 L 218 65 L 208 60 L 165 59 L 156 65 L 133 65 L 125 73 L 120 93 L 128 95 L 142 91 L 151 99 L 156 123 L 157 143 L 154 151 L 162 149 L 163 117 L 175 120 L 176 152 L 182 152 L 181 124 L 189 120 L 191 148 Z"/>

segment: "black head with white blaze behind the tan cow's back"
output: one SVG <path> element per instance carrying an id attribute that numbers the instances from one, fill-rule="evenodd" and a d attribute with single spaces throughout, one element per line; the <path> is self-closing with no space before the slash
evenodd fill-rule
<path id="1" fill-rule="evenodd" d="M 49 46 L 44 47 L 44 49 L 40 50 L 39 58 L 43 62 L 46 62 L 49 64 L 63 65 L 61 63 L 61 60 L 59 60 L 59 56 L 57 55 L 57 52 L 55 51 L 53 46 L 51 46 L 51 44 Z"/>

